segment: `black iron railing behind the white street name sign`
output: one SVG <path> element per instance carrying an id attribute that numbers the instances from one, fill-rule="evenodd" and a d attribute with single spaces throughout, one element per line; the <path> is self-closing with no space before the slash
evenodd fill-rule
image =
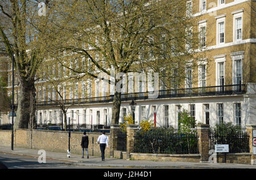
<path id="1" fill-rule="evenodd" d="M 233 135 L 222 136 L 209 132 L 209 150 L 215 149 L 216 144 L 229 144 L 230 153 L 250 152 L 249 136 L 246 132 L 236 132 Z"/>

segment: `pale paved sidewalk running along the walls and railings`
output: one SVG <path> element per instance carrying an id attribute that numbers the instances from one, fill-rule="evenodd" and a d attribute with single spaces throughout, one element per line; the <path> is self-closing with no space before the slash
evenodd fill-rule
<path id="1" fill-rule="evenodd" d="M 0 145 L 0 153 L 11 155 L 36 157 L 38 158 L 37 149 L 15 148 L 11 151 L 11 147 Z M 71 157 L 67 157 L 67 153 L 46 151 L 46 161 L 56 160 L 64 162 L 65 165 L 71 166 L 90 166 L 90 167 L 106 167 L 106 168 L 232 168 L 232 169 L 256 169 L 256 165 L 245 164 L 225 164 L 225 163 L 196 163 L 196 162 L 163 162 L 163 161 L 135 161 L 123 160 L 117 158 L 105 157 L 105 161 L 101 161 L 101 157 L 90 156 L 82 159 L 81 155 L 75 155 L 71 152 Z"/>

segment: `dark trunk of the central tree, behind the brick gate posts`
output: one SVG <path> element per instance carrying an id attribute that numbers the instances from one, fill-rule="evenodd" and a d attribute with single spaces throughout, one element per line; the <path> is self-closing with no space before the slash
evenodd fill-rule
<path id="1" fill-rule="evenodd" d="M 113 108 L 112 108 L 112 120 L 111 120 L 112 124 L 118 125 L 119 123 L 120 106 L 121 106 L 121 92 L 117 92 L 115 90 Z"/>

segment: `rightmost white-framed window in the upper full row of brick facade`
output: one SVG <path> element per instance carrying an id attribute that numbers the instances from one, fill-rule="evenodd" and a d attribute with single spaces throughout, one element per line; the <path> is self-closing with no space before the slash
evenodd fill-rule
<path id="1" fill-rule="evenodd" d="M 233 11 L 233 41 L 242 40 L 243 9 Z"/>

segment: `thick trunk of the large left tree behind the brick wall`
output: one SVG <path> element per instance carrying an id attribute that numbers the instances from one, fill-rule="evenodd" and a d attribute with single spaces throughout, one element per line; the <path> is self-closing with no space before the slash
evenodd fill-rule
<path id="1" fill-rule="evenodd" d="M 31 78 L 32 79 L 32 78 Z M 17 117 L 14 128 L 35 128 L 35 82 L 20 77 L 20 94 L 18 100 Z"/>

